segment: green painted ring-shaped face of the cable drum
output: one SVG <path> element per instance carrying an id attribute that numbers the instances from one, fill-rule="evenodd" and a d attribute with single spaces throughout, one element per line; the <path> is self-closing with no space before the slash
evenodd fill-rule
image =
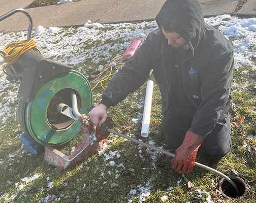
<path id="1" fill-rule="evenodd" d="M 62 145 L 72 140 L 80 132 L 80 121 L 75 121 L 67 128 L 60 130 L 53 129 L 47 121 L 47 108 L 50 100 L 63 89 L 75 90 L 78 93 L 81 101 L 79 110 L 81 114 L 87 115 L 87 110 L 91 106 L 91 88 L 89 82 L 81 73 L 72 70 L 52 78 L 41 87 L 34 99 L 26 104 L 23 116 L 29 136 L 40 144 Z"/>

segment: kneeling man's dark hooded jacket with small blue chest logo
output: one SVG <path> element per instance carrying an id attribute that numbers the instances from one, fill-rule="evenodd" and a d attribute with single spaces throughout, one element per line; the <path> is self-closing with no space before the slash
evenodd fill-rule
<path id="1" fill-rule="evenodd" d="M 204 22 L 196 0 L 167 0 L 155 18 L 158 25 L 177 32 L 187 42 L 180 63 L 182 88 L 195 107 L 189 130 L 206 137 L 217 123 L 225 124 L 230 105 L 233 78 L 233 48 L 215 28 Z M 114 106 L 143 85 L 153 70 L 162 95 L 162 112 L 175 108 L 173 83 L 175 50 L 167 44 L 161 29 L 149 33 L 136 54 L 112 79 L 102 96 L 102 104 Z"/>

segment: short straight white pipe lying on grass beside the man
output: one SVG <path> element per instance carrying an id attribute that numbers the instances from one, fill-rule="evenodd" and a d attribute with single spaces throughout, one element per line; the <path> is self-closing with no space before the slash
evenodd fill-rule
<path id="1" fill-rule="evenodd" d="M 149 124 L 150 124 L 150 114 L 151 114 L 151 105 L 152 105 L 152 95 L 153 95 L 153 86 L 154 86 L 153 81 L 149 80 L 147 82 L 146 97 L 145 97 L 143 119 L 142 119 L 142 126 L 141 126 L 141 136 L 143 138 L 148 137 L 148 130 L 149 130 Z"/>

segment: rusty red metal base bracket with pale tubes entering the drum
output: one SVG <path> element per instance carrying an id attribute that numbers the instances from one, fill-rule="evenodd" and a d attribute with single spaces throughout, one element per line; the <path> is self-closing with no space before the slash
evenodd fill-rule
<path id="1" fill-rule="evenodd" d="M 45 147 L 44 159 L 48 163 L 57 166 L 60 170 L 98 153 L 98 151 L 102 149 L 105 139 L 110 134 L 107 129 L 113 127 L 111 118 L 107 118 L 107 121 L 101 127 L 94 126 L 86 115 L 81 115 L 79 113 L 77 97 L 73 92 L 71 93 L 71 99 L 72 108 L 61 103 L 56 106 L 56 110 L 60 114 L 66 115 L 74 120 L 81 121 L 81 132 L 83 134 L 82 140 L 78 143 L 75 151 L 69 156 L 53 147 Z"/>

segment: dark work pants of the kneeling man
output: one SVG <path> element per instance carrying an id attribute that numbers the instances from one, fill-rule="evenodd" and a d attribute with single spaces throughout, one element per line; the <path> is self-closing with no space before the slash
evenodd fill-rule
<path id="1" fill-rule="evenodd" d="M 163 117 L 166 144 L 170 149 L 176 150 L 182 144 L 192 120 L 193 118 L 180 112 Z M 224 122 L 217 123 L 212 132 L 204 139 L 200 150 L 208 155 L 224 156 L 231 150 L 231 145 L 230 119 L 227 115 Z"/>

